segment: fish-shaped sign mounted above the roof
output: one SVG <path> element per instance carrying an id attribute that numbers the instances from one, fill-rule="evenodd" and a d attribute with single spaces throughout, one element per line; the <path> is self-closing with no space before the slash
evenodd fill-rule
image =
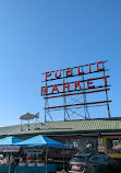
<path id="1" fill-rule="evenodd" d="M 26 114 L 20 116 L 20 119 L 22 119 L 22 120 L 29 120 L 29 119 L 34 119 L 34 118 L 39 118 L 39 113 L 37 113 L 37 114 L 26 113 Z"/>

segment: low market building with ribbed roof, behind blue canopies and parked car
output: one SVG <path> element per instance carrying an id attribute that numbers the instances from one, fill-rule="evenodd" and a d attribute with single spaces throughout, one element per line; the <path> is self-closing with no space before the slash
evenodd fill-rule
<path id="1" fill-rule="evenodd" d="M 121 142 L 121 118 L 86 119 L 68 122 L 34 123 L 0 128 L 0 138 L 15 136 L 28 139 L 36 135 L 45 135 L 64 143 L 63 149 L 50 149 L 50 158 L 72 158 L 76 153 L 106 153 L 112 158 L 121 158 L 121 150 L 113 147 Z"/>

